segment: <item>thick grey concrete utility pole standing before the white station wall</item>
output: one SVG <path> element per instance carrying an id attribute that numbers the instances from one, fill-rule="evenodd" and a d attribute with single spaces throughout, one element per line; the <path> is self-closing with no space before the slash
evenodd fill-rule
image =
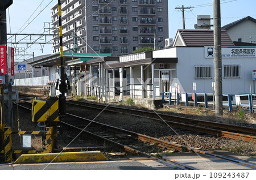
<path id="1" fill-rule="evenodd" d="M 213 36 L 214 36 L 214 81 L 215 81 L 215 113 L 223 114 L 222 104 L 222 60 L 221 60 L 221 10 L 220 0 L 213 0 Z"/>

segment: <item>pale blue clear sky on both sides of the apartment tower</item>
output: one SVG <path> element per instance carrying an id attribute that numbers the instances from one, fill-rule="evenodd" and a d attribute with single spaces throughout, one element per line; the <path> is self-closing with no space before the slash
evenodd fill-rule
<path id="1" fill-rule="evenodd" d="M 185 10 L 185 28 L 195 29 L 197 15 L 210 15 L 213 18 L 213 0 L 163 0 L 168 1 L 169 37 L 174 38 L 177 29 L 183 28 L 182 12 L 175 7 L 191 7 Z M 51 8 L 57 4 L 57 0 L 13 0 L 6 10 L 7 33 L 35 33 L 48 31 L 51 22 Z M 251 16 L 256 19 L 255 0 L 221 0 L 221 26 L 232 23 L 238 19 Z M 213 21 L 211 22 L 213 24 Z M 46 28 L 46 29 L 45 29 Z M 11 40 L 8 40 L 11 41 Z M 40 41 L 44 41 L 43 38 Z M 10 45 L 9 45 L 10 46 Z M 51 45 L 45 45 L 42 52 L 40 45 L 17 46 L 26 49 L 27 54 L 37 55 L 51 54 Z M 22 57 L 23 58 L 23 57 Z M 25 59 L 31 58 L 26 56 Z"/>

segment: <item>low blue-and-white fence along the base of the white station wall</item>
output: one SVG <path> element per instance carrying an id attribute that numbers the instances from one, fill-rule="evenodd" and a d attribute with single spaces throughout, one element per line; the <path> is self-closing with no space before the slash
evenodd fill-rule
<path id="1" fill-rule="evenodd" d="M 189 96 L 190 95 L 190 96 Z M 192 97 L 191 97 L 192 96 Z M 253 113 L 253 96 L 254 94 L 244 94 L 244 95 L 223 95 L 227 98 L 227 102 L 224 101 L 223 105 L 227 105 L 229 107 L 229 111 L 233 110 L 233 105 L 236 106 L 246 106 L 249 107 L 250 113 Z M 182 98 L 181 98 L 182 97 Z M 192 101 L 189 101 L 189 97 L 192 98 Z M 203 101 L 200 101 L 198 97 Z M 208 97 L 212 97 L 212 102 L 209 102 Z M 241 97 L 244 98 L 241 103 Z M 181 102 L 185 103 L 185 106 L 189 106 L 190 104 L 194 104 L 194 106 L 198 106 L 199 104 L 203 104 L 204 108 L 208 108 L 209 104 L 212 104 L 214 107 L 214 94 L 213 93 L 171 93 L 171 92 L 162 92 L 162 103 L 168 102 L 169 105 L 174 102 L 176 105 L 180 105 Z M 256 105 L 255 105 L 256 106 Z"/>

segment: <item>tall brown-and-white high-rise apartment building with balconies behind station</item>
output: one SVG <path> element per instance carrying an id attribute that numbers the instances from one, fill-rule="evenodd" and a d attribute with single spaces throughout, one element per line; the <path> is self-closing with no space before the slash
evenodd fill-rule
<path id="1" fill-rule="evenodd" d="M 168 38 L 167 0 L 63 0 L 64 52 L 132 53 L 164 48 Z M 52 7 L 53 51 L 59 52 L 58 5 Z"/>

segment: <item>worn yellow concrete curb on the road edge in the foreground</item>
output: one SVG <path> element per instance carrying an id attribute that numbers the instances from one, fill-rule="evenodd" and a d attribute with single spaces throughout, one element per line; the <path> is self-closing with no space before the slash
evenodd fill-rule
<path id="1" fill-rule="evenodd" d="M 21 155 L 14 164 L 108 160 L 100 151 Z"/>

